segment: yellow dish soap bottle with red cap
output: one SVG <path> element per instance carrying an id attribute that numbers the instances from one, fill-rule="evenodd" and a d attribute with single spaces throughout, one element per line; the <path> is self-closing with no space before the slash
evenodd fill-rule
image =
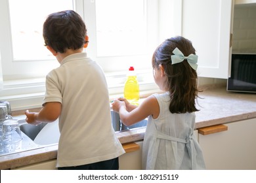
<path id="1" fill-rule="evenodd" d="M 139 105 L 140 93 L 137 75 L 133 67 L 129 68 L 127 80 L 124 87 L 124 97 L 133 105 Z"/>

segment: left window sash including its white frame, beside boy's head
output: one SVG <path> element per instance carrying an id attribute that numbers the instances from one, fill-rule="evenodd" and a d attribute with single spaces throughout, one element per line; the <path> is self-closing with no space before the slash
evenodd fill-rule
<path id="1" fill-rule="evenodd" d="M 44 46 L 43 22 L 51 12 L 73 7 L 72 0 L 1 1 L 4 44 L 0 50 L 4 80 L 45 76 L 58 65 Z"/>

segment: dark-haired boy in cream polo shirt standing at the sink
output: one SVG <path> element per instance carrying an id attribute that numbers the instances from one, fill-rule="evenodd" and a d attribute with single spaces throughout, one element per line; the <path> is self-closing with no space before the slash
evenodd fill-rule
<path id="1" fill-rule="evenodd" d="M 87 58 L 87 29 L 79 14 L 66 10 L 50 14 L 43 24 L 45 46 L 60 67 L 46 78 L 40 112 L 26 111 L 29 124 L 59 118 L 58 169 L 119 169 L 125 151 L 111 124 L 106 78 Z"/>

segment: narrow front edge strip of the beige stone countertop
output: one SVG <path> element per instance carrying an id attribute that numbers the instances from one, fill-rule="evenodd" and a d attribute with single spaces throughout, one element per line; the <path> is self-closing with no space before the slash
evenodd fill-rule
<path id="1" fill-rule="evenodd" d="M 248 120 L 256 118 L 256 112 L 249 112 L 240 115 L 228 116 L 226 118 L 218 118 L 209 121 L 197 122 L 195 129 L 201 127 L 207 127 L 210 125 L 226 124 L 229 122 L 236 122 L 240 120 Z M 131 129 L 127 131 L 117 132 L 117 139 L 121 144 L 127 142 L 135 142 L 144 139 L 144 133 L 146 127 L 138 129 Z M 14 169 L 16 167 L 22 167 L 25 165 L 32 165 L 34 163 L 40 163 L 42 161 L 48 161 L 57 158 L 58 144 L 51 146 L 37 148 L 35 150 L 28 150 L 25 152 L 19 152 L 16 154 L 9 154 L 7 156 L 0 157 L 0 169 Z"/>

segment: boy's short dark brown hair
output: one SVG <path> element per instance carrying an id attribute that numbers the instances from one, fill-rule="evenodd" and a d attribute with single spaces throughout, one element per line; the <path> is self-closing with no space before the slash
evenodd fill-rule
<path id="1" fill-rule="evenodd" d="M 85 23 L 74 10 L 54 12 L 43 24 L 45 46 L 51 46 L 56 52 L 64 53 L 66 49 L 82 48 L 86 43 L 85 35 Z"/>

